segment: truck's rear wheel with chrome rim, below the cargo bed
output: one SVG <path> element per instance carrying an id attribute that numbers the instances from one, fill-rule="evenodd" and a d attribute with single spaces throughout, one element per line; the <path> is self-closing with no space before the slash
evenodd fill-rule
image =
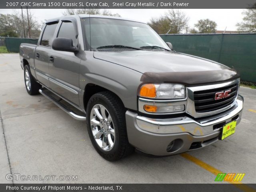
<path id="1" fill-rule="evenodd" d="M 24 67 L 24 82 L 25 87 L 30 95 L 37 95 L 39 94 L 39 89 L 42 88 L 42 86 L 36 82 L 36 80 L 33 78 L 29 65 L 25 65 Z"/>

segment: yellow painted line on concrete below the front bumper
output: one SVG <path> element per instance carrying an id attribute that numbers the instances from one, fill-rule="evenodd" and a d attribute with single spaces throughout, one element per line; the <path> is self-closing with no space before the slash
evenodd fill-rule
<path id="1" fill-rule="evenodd" d="M 214 168 L 213 166 L 210 166 L 209 164 L 199 160 L 198 158 L 195 158 L 194 156 L 191 156 L 188 153 L 183 153 L 180 154 L 180 156 L 182 156 L 183 158 L 195 163 L 196 165 L 200 166 L 201 168 L 207 170 L 208 172 L 211 172 L 214 175 L 218 175 L 219 173 L 223 173 L 222 171 Z M 234 185 L 235 187 L 239 188 L 242 191 L 245 192 L 256 192 L 255 189 L 247 186 L 246 184 L 243 184 L 242 182 L 239 181 L 229 181 L 230 184 L 239 184 L 239 185 Z"/>

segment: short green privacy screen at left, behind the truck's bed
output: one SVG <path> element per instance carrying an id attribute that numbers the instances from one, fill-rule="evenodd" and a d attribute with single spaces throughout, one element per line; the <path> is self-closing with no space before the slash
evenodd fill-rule
<path id="1" fill-rule="evenodd" d="M 20 44 L 21 43 L 37 44 L 38 39 L 6 37 L 5 42 L 6 42 L 6 48 L 9 52 L 20 52 Z"/>

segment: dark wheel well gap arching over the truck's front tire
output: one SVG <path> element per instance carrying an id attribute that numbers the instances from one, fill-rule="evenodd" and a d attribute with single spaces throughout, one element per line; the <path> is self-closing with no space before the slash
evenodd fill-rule
<path id="1" fill-rule="evenodd" d="M 109 91 L 112 92 L 104 87 L 95 85 L 95 84 L 87 84 L 85 89 L 84 89 L 84 109 L 86 110 L 87 108 L 87 104 L 89 99 L 91 98 L 91 96 L 93 96 L 94 94 L 98 93 L 98 92 L 102 92 L 102 91 Z M 115 94 L 114 92 L 112 92 L 113 94 Z M 115 94 L 116 95 L 116 94 Z M 119 99 L 120 97 L 118 95 L 116 95 Z M 122 100 L 120 99 L 120 101 L 122 102 Z M 123 102 L 122 102 L 123 104 Z"/>

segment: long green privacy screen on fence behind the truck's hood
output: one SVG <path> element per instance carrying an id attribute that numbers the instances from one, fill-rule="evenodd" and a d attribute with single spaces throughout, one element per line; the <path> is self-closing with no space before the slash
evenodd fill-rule
<path id="1" fill-rule="evenodd" d="M 160 35 L 177 52 L 235 68 L 241 80 L 256 82 L 256 33 Z"/>

